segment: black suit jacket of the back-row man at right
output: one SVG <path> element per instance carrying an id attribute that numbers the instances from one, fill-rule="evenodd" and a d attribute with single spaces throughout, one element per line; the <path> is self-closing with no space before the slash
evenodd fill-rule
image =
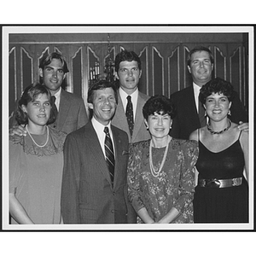
<path id="1" fill-rule="evenodd" d="M 195 106 L 193 86 L 189 86 L 173 93 L 171 99 L 177 109 L 177 115 L 172 121 L 172 130 L 170 134 L 175 138 L 189 139 L 189 135 L 192 131 L 201 128 Z M 247 113 L 236 92 L 230 112 L 230 119 L 232 122 L 236 124 L 238 124 L 239 121 L 247 122 Z"/>

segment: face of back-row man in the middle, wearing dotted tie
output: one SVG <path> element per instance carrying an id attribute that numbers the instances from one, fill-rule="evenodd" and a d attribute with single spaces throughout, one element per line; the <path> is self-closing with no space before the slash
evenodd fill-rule
<path id="1" fill-rule="evenodd" d="M 116 78 L 119 79 L 120 87 L 127 94 L 137 90 L 141 75 L 142 71 L 139 69 L 137 61 L 121 61 L 119 63 L 119 70 L 115 74 Z"/>

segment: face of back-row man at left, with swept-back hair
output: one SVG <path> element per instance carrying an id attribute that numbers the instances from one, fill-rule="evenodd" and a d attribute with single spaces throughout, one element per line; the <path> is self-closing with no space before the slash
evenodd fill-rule
<path id="1" fill-rule="evenodd" d="M 61 84 L 66 77 L 63 71 L 62 62 L 59 59 L 52 59 L 49 65 L 39 69 L 43 84 L 50 90 L 51 95 L 60 90 Z"/>

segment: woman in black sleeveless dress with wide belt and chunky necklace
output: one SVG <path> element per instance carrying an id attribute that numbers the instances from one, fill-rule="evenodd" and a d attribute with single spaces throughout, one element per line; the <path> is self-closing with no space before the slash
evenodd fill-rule
<path id="1" fill-rule="evenodd" d="M 224 79 L 212 79 L 202 86 L 199 97 L 209 121 L 189 137 L 199 142 L 195 223 L 246 223 L 248 133 L 229 119 L 233 87 Z"/>

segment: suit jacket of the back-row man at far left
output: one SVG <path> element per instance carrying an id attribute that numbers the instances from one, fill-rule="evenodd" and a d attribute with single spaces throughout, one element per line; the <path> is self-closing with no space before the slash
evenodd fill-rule
<path id="1" fill-rule="evenodd" d="M 55 123 L 50 126 L 68 134 L 84 126 L 87 121 L 84 100 L 80 96 L 61 90 L 59 113 Z"/>

